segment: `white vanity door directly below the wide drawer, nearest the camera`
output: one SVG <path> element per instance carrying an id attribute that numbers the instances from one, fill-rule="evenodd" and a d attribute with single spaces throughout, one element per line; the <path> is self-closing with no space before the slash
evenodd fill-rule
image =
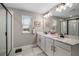
<path id="1" fill-rule="evenodd" d="M 65 49 L 55 46 L 54 56 L 70 56 L 71 52 L 66 51 Z"/>

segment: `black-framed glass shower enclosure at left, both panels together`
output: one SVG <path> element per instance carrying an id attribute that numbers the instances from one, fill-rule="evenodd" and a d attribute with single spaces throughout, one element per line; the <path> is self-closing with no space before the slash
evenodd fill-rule
<path id="1" fill-rule="evenodd" d="M 12 50 L 12 15 L 0 3 L 0 56 L 9 55 Z"/>

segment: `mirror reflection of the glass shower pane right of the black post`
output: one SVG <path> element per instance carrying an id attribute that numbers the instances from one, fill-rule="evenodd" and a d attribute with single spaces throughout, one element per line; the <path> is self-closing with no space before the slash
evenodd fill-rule
<path id="1" fill-rule="evenodd" d="M 70 20 L 69 21 L 69 35 L 79 36 L 79 20 Z"/>

